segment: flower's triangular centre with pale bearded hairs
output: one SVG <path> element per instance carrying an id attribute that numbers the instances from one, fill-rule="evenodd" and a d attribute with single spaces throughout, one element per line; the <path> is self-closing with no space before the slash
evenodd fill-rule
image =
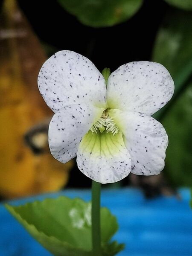
<path id="1" fill-rule="evenodd" d="M 109 116 L 108 109 L 106 109 L 103 111 L 99 120 L 97 120 L 97 122 L 92 125 L 90 130 L 92 131 L 92 134 L 94 132 L 97 134 L 98 131 L 102 133 L 106 130 L 107 133 L 111 132 L 113 135 L 115 135 L 119 132 L 119 127 L 116 125 L 113 118 Z"/>

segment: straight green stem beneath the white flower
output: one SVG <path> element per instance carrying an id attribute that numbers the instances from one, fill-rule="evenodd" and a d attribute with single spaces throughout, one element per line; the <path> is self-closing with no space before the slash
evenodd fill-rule
<path id="1" fill-rule="evenodd" d="M 93 256 L 101 256 L 100 195 L 101 183 L 93 180 L 91 208 Z"/>

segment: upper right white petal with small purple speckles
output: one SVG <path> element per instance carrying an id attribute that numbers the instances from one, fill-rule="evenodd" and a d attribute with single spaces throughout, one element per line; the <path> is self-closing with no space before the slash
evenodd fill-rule
<path id="1" fill-rule="evenodd" d="M 109 108 L 152 115 L 172 98 L 174 82 L 163 65 L 131 62 L 119 67 L 108 78 Z"/>

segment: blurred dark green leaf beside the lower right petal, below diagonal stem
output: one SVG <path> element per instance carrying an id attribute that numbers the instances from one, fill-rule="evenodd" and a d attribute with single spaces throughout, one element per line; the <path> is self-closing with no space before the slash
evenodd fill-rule
<path id="1" fill-rule="evenodd" d="M 169 135 L 166 174 L 175 186 L 192 186 L 192 83 L 162 120 Z"/>

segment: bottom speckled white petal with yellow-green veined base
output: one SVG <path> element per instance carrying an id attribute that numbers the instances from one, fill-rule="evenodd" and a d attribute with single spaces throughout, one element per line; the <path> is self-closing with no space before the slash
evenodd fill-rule
<path id="1" fill-rule="evenodd" d="M 131 171 L 131 158 L 122 134 L 89 131 L 81 140 L 77 152 L 79 170 L 92 180 L 113 183 L 125 178 Z"/>

